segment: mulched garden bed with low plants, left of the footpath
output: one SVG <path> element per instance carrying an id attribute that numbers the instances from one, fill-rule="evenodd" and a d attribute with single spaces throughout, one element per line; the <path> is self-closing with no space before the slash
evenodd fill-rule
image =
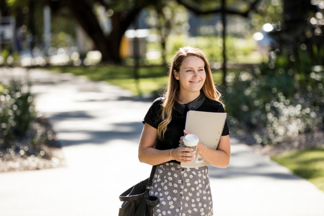
<path id="1" fill-rule="evenodd" d="M 31 144 L 32 143 L 32 144 Z M 0 173 L 64 167 L 64 155 L 52 126 L 36 117 L 24 138 L 15 138 L 10 148 L 0 149 Z"/>

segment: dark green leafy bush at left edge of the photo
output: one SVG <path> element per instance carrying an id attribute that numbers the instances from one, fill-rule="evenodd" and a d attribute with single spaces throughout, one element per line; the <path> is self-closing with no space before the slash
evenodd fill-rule
<path id="1" fill-rule="evenodd" d="M 15 137 L 23 138 L 35 117 L 30 83 L 11 80 L 0 93 L 0 147 L 11 146 Z"/>

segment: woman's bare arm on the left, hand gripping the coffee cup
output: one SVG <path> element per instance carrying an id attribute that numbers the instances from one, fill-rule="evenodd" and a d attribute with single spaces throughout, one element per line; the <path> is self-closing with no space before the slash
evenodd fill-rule
<path id="1" fill-rule="evenodd" d="M 192 155 L 195 155 L 194 153 L 184 152 L 192 151 L 193 149 L 184 147 L 178 147 L 172 150 L 171 158 L 170 149 L 157 150 L 154 148 L 156 138 L 157 129 L 145 123 L 138 146 L 138 159 L 140 162 L 150 165 L 157 165 L 171 160 L 189 162 L 194 159 L 194 157 L 190 157 Z"/>

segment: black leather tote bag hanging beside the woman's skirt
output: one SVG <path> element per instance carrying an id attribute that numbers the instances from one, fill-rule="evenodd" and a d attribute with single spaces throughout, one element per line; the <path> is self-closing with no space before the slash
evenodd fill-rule
<path id="1" fill-rule="evenodd" d="M 123 203 L 119 208 L 118 216 L 153 215 L 153 207 L 160 203 L 157 197 L 149 195 L 155 169 L 156 166 L 153 166 L 149 178 L 130 187 L 119 196 Z"/>

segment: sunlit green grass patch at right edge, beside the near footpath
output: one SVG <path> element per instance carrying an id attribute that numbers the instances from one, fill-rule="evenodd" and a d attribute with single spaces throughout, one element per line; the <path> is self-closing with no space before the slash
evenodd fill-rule
<path id="1" fill-rule="evenodd" d="M 324 191 L 324 146 L 272 156 L 271 159 Z"/>

